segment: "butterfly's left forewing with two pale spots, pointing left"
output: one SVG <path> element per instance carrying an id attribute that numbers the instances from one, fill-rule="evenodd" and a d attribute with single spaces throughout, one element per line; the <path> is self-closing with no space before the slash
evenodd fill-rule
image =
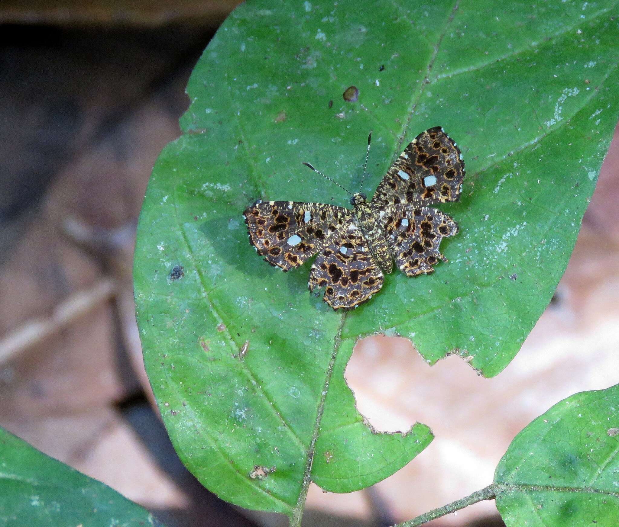
<path id="1" fill-rule="evenodd" d="M 326 246 L 351 213 L 321 203 L 266 201 L 247 208 L 244 216 L 258 254 L 287 271 Z"/>

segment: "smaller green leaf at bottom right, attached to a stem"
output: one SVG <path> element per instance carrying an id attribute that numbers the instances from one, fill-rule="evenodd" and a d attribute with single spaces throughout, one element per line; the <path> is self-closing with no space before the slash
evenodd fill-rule
<path id="1" fill-rule="evenodd" d="M 507 527 L 619 525 L 619 385 L 557 403 L 511 442 L 495 473 Z"/>

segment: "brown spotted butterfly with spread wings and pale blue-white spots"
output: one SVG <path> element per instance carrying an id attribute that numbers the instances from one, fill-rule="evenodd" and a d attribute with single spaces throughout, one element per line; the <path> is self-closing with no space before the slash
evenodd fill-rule
<path id="1" fill-rule="evenodd" d="M 324 287 L 329 306 L 351 309 L 378 293 L 394 260 L 407 276 L 429 274 L 439 260 L 446 261 L 439 245 L 446 236 L 454 236 L 458 226 L 430 205 L 459 200 L 463 179 L 460 149 L 436 126 L 409 143 L 370 201 L 361 192 L 353 194 L 352 210 L 264 201 L 247 208 L 243 216 L 249 242 L 274 267 L 288 271 L 318 254 L 309 272 L 309 290 Z"/>

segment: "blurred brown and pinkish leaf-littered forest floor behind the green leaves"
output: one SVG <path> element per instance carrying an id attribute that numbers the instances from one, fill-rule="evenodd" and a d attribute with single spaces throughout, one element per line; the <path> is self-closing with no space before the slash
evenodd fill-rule
<path id="1" fill-rule="evenodd" d="M 280 526 L 183 468 L 154 409 L 134 319 L 137 216 L 184 87 L 235 1 L 0 6 L 0 426 L 153 510 L 168 527 Z M 553 403 L 617 383 L 617 134 L 552 304 L 513 363 L 481 379 L 409 341 L 357 345 L 347 380 L 379 430 L 436 440 L 386 481 L 312 487 L 304 525 L 386 526 L 491 482 L 514 435 Z M 502 525 L 478 503 L 439 526 Z"/>

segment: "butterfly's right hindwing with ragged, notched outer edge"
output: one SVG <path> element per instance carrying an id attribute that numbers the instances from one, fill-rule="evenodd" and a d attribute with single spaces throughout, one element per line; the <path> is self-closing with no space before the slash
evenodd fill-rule
<path id="1" fill-rule="evenodd" d="M 433 272 L 433 265 L 446 260 L 439 251 L 441 240 L 458 231 L 454 220 L 430 207 L 393 205 L 380 221 L 396 265 L 407 276 Z"/>

